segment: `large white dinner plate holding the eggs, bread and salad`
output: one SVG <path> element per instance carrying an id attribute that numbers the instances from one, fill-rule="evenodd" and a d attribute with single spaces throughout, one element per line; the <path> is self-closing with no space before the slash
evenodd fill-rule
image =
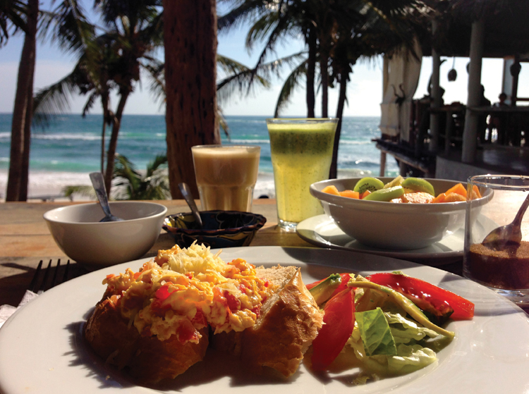
<path id="1" fill-rule="evenodd" d="M 451 322 L 456 338 L 439 360 L 413 374 L 352 386 L 355 371 L 313 376 L 303 365 L 288 381 L 241 376 L 233 364 L 208 356 L 178 376 L 166 393 L 525 393 L 529 385 L 529 319 L 491 290 L 451 273 L 372 254 L 317 248 L 241 247 L 225 250 L 226 261 L 296 264 L 310 283 L 336 271 L 399 270 L 454 291 L 475 303 L 472 321 Z M 141 261 L 87 273 L 48 290 L 26 304 L 0 328 L 0 393 L 154 393 L 133 386 L 87 351 L 80 330 L 109 273 L 138 269 Z M 330 266 L 339 268 L 329 268 Z"/>

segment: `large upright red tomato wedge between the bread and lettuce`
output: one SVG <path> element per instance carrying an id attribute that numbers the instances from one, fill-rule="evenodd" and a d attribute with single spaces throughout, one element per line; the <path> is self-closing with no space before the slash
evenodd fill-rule
<path id="1" fill-rule="evenodd" d="M 322 371 L 339 355 L 355 327 L 353 289 L 346 288 L 324 307 L 324 325 L 312 341 L 312 369 Z"/>

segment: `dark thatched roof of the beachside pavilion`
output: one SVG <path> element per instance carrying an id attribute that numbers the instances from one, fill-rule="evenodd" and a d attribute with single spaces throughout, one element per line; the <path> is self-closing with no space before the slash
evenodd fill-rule
<path id="1" fill-rule="evenodd" d="M 439 29 L 433 42 L 443 56 L 468 56 L 475 20 L 485 21 L 485 57 L 529 55 L 528 0 L 439 0 L 435 4 Z"/>

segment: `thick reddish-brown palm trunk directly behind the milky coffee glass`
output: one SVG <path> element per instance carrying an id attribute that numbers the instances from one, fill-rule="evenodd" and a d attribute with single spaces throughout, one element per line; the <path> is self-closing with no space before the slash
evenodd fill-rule
<path id="1" fill-rule="evenodd" d="M 219 144 L 217 113 L 217 12 L 215 0 L 164 0 L 166 140 L 169 185 L 198 190 L 191 147 Z"/>

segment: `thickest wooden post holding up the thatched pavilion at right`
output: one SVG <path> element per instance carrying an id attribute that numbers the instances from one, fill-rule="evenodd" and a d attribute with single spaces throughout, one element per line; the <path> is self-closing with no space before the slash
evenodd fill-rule
<path id="1" fill-rule="evenodd" d="M 481 97 L 481 61 L 483 57 L 483 41 L 485 40 L 485 22 L 476 20 L 472 23 L 470 35 L 470 68 L 468 70 L 468 99 L 463 131 L 463 163 L 473 163 L 478 149 L 479 114 L 472 111 L 480 106 Z"/>

